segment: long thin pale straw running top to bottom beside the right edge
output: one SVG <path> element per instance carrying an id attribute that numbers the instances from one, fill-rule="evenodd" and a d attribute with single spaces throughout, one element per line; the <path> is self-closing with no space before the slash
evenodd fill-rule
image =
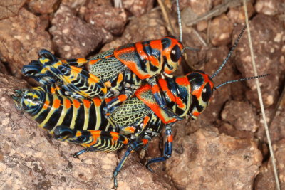
<path id="1" fill-rule="evenodd" d="M 252 48 L 252 37 L 250 35 L 250 27 L 249 27 L 249 16 L 247 15 L 247 2 L 246 0 L 244 1 L 244 14 L 245 14 L 245 21 L 247 23 L 247 34 L 249 36 L 249 49 L 250 49 L 250 55 L 252 56 L 252 66 L 254 68 L 254 75 L 257 75 L 257 66 L 255 64 L 255 60 L 254 60 L 254 51 Z M 277 174 L 277 169 L 276 169 L 276 162 L 275 162 L 275 157 L 274 157 L 274 152 L 273 152 L 273 148 L 272 148 L 272 144 L 271 144 L 271 137 L 269 134 L 269 129 L 268 129 L 268 125 L 266 122 L 266 115 L 265 115 L 265 110 L 264 110 L 264 104 L 262 101 L 262 97 L 261 97 L 261 89 L 259 86 L 259 80 L 256 79 L 255 80 L 257 82 L 257 93 L 259 96 L 259 103 L 260 103 L 260 107 L 261 107 L 261 113 L 262 113 L 262 117 L 264 120 L 264 128 L 265 128 L 265 132 L 266 132 L 266 137 L 268 140 L 268 145 L 269 145 L 269 151 L 270 151 L 270 155 L 271 155 L 271 161 L 272 161 L 272 165 L 273 165 L 273 170 L 274 170 L 274 177 L 275 177 L 275 181 L 276 181 L 276 189 L 280 190 L 280 184 L 279 184 L 279 179 L 278 179 L 278 174 Z"/>

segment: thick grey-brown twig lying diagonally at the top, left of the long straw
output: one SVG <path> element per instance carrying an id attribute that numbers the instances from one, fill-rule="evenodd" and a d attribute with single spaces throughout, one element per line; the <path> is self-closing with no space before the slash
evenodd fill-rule
<path id="1" fill-rule="evenodd" d="M 249 0 L 247 0 L 247 1 L 249 1 Z M 214 9 L 212 9 L 211 11 L 204 13 L 201 16 L 198 16 L 197 19 L 186 22 L 186 26 L 192 26 L 192 25 L 198 23 L 199 21 L 204 21 L 204 20 L 207 21 L 209 19 L 212 19 L 214 16 L 219 16 L 220 14 L 227 11 L 227 9 L 229 9 L 229 7 L 238 6 L 239 4 L 241 4 L 241 2 L 242 2 L 242 0 L 226 1 L 224 4 L 220 4 L 220 5 L 215 6 Z"/>

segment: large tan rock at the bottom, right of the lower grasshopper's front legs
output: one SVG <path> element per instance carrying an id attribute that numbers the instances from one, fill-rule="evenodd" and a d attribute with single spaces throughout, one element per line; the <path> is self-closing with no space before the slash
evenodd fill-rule
<path id="1" fill-rule="evenodd" d="M 201 129 L 175 144 L 182 152 L 172 154 L 166 171 L 178 188 L 253 189 L 262 156 L 252 140 Z"/>

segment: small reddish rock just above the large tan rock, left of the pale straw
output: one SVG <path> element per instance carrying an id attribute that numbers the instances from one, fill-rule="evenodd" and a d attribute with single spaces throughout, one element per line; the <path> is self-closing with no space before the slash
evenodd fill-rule
<path id="1" fill-rule="evenodd" d="M 255 132 L 257 112 L 248 102 L 229 101 L 222 111 L 222 120 L 227 120 L 237 130 Z"/>

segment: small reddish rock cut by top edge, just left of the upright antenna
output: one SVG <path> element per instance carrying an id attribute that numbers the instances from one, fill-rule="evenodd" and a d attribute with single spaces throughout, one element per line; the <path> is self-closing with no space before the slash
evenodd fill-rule
<path id="1" fill-rule="evenodd" d="M 122 1 L 123 8 L 130 11 L 135 16 L 142 16 L 153 8 L 153 0 L 125 0 Z"/>

